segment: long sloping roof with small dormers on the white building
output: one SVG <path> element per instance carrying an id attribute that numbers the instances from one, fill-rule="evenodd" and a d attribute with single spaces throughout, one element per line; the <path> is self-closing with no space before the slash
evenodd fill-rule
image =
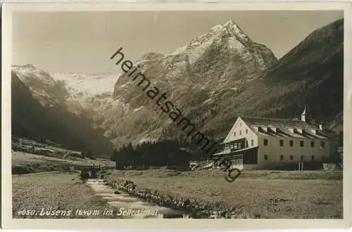
<path id="1" fill-rule="evenodd" d="M 329 138 L 315 124 L 301 120 L 283 120 L 260 117 L 241 117 L 256 134 L 291 138 Z"/>

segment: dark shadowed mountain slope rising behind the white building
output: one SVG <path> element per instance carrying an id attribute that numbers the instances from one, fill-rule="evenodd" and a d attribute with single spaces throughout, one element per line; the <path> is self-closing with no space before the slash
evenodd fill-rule
<path id="1" fill-rule="evenodd" d="M 231 108 L 234 116 L 292 118 L 306 106 L 315 122 L 339 130 L 341 125 L 332 121 L 342 121 L 343 89 L 344 20 L 337 20 L 309 34 L 268 68 L 263 78 L 234 99 Z M 209 124 L 216 122 L 228 118 L 218 115 Z"/>

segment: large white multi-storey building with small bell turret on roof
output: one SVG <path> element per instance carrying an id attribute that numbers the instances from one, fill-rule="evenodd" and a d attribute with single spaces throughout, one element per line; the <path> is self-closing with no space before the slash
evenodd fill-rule
<path id="1" fill-rule="evenodd" d="M 279 162 L 327 160 L 332 151 L 322 125 L 308 122 L 306 109 L 301 120 L 238 117 L 220 152 L 244 169 Z"/>

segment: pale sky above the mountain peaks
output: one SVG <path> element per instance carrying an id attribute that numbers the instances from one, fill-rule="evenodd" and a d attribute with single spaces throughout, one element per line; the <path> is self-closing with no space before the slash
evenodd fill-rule
<path id="1" fill-rule="evenodd" d="M 343 11 L 121 11 L 15 13 L 13 65 L 47 72 L 120 72 L 110 57 L 122 46 L 137 61 L 172 53 L 211 27 L 233 20 L 253 41 L 281 58 Z"/>

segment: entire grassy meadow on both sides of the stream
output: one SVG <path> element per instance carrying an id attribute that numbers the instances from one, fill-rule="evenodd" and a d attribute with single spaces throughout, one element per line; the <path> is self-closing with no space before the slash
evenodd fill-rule
<path id="1" fill-rule="evenodd" d="M 29 153 L 13 153 L 13 167 L 25 167 L 31 174 L 13 174 L 13 217 L 48 218 L 20 215 L 20 210 L 104 210 L 106 200 L 94 195 L 77 172 L 61 172 L 62 164 L 89 165 L 92 160 L 60 159 Z M 108 160 L 94 160 L 113 167 Z M 55 172 L 49 172 L 55 171 Z M 245 212 L 246 218 L 341 219 L 341 171 L 246 171 L 234 182 L 225 181 L 220 170 L 179 172 L 170 169 L 118 171 L 108 169 L 106 179 L 127 179 L 140 188 L 160 191 L 173 197 L 198 199 Z M 38 211 L 39 210 L 39 211 Z M 73 215 L 49 218 L 97 218 Z M 100 216 L 101 217 L 101 216 Z"/>

